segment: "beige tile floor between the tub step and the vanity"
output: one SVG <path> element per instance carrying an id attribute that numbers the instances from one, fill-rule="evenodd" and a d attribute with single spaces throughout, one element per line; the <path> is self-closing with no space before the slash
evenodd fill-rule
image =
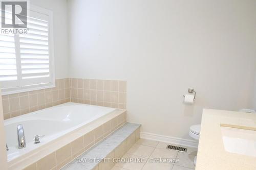
<path id="1" fill-rule="evenodd" d="M 133 160 L 132 162 L 116 163 L 112 170 L 191 170 L 195 169 L 194 158 L 197 155 L 196 148 L 187 148 L 187 153 L 182 153 L 173 150 L 167 150 L 168 143 L 140 139 L 133 147 L 127 151 L 121 161 Z M 131 159 L 132 158 L 132 159 Z M 179 159 L 176 163 L 154 162 L 159 161 L 159 158 Z M 137 160 L 137 162 L 135 162 Z M 125 161 L 124 161 L 125 162 Z"/>

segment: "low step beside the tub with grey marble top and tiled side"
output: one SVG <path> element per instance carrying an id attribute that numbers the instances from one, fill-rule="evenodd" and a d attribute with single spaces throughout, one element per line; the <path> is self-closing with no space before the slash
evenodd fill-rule
<path id="1" fill-rule="evenodd" d="M 126 123 L 113 134 L 106 137 L 97 145 L 84 152 L 82 155 L 64 166 L 63 170 L 91 170 L 102 169 L 110 170 L 115 162 L 114 158 L 121 158 L 131 146 L 139 140 L 140 125 Z M 94 159 L 110 159 L 106 162 L 92 161 Z M 77 160 L 87 159 L 87 162 L 77 162 Z"/>

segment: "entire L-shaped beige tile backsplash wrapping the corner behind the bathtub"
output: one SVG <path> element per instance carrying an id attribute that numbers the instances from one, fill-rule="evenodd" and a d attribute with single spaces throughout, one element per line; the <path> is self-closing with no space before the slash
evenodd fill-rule
<path id="1" fill-rule="evenodd" d="M 113 108 L 126 108 L 126 81 L 95 79 L 56 79 L 56 87 L 3 95 L 4 119 L 75 102 Z"/>

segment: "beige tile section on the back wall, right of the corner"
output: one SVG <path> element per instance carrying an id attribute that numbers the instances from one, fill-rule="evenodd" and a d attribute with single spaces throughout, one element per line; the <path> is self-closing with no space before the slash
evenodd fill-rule
<path id="1" fill-rule="evenodd" d="M 126 81 L 71 79 L 71 101 L 126 109 Z"/>

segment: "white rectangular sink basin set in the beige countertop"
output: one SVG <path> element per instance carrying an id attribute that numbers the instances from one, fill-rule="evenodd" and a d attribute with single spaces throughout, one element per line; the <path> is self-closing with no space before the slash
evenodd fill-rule
<path id="1" fill-rule="evenodd" d="M 256 157 L 255 128 L 222 126 L 221 133 L 224 148 L 227 152 Z M 248 128 L 248 129 L 247 129 Z"/>

